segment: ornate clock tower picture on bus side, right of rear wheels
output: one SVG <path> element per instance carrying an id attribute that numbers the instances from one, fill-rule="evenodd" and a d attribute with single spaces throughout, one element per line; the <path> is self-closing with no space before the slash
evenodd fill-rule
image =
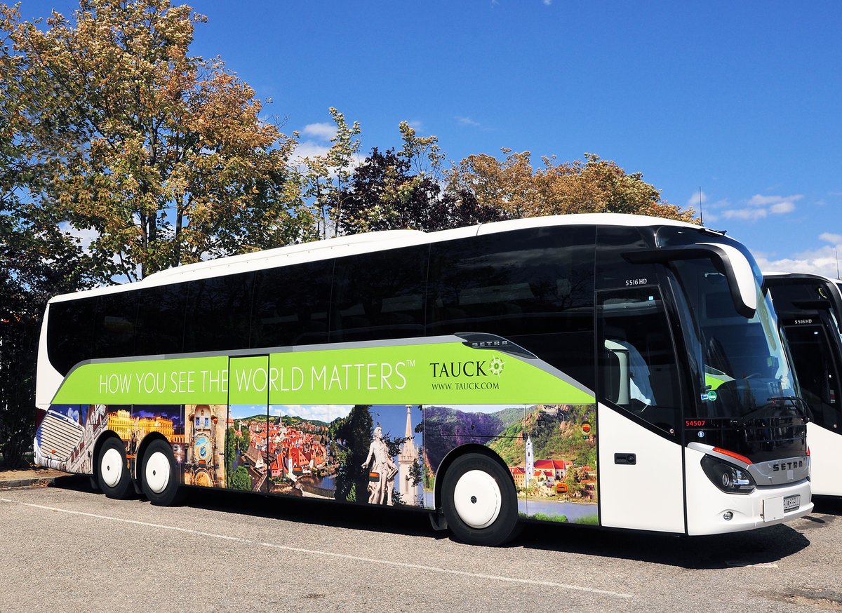
<path id="1" fill-rule="evenodd" d="M 219 413 L 225 405 L 187 405 L 185 434 L 187 461 L 184 464 L 184 483 L 205 488 L 221 487 L 225 483 L 222 474 L 224 463 L 221 454 L 225 449 L 225 420 Z M 223 431 L 220 434 L 220 421 Z"/>

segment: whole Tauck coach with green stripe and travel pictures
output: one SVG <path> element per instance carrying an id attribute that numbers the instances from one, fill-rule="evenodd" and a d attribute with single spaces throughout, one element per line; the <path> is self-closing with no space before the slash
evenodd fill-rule
<path id="1" fill-rule="evenodd" d="M 482 544 L 520 520 L 773 525 L 813 504 L 806 406 L 761 280 L 722 232 L 573 215 L 340 237 L 56 296 L 36 458 L 113 498 L 392 505 Z"/>

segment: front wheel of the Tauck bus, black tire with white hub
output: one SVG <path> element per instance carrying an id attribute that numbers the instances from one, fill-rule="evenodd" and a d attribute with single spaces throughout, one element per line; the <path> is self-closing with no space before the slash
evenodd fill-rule
<path id="1" fill-rule="evenodd" d="M 459 456 L 445 473 L 442 510 L 457 541 L 498 546 L 518 532 L 518 498 L 498 462 L 478 453 Z"/>

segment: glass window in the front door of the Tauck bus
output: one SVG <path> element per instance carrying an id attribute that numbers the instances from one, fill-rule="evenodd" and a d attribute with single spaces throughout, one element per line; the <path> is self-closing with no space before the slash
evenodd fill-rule
<path id="1" fill-rule="evenodd" d="M 676 429 L 678 369 L 660 290 L 600 291 L 598 300 L 600 397 Z"/>

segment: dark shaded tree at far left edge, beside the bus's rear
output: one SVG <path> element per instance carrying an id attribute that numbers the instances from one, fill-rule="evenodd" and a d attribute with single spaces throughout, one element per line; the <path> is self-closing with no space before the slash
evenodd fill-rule
<path id="1" fill-rule="evenodd" d="M 16 14 L 0 7 L 0 19 Z M 93 285 L 101 277 L 77 239 L 61 232 L 59 219 L 25 198 L 45 185 L 45 165 L 20 92 L 27 73 L 8 78 L 17 61 L 8 38 L 0 41 L 0 451 L 9 466 L 24 464 L 35 426 L 35 362 L 40 322 L 55 294 Z"/>

